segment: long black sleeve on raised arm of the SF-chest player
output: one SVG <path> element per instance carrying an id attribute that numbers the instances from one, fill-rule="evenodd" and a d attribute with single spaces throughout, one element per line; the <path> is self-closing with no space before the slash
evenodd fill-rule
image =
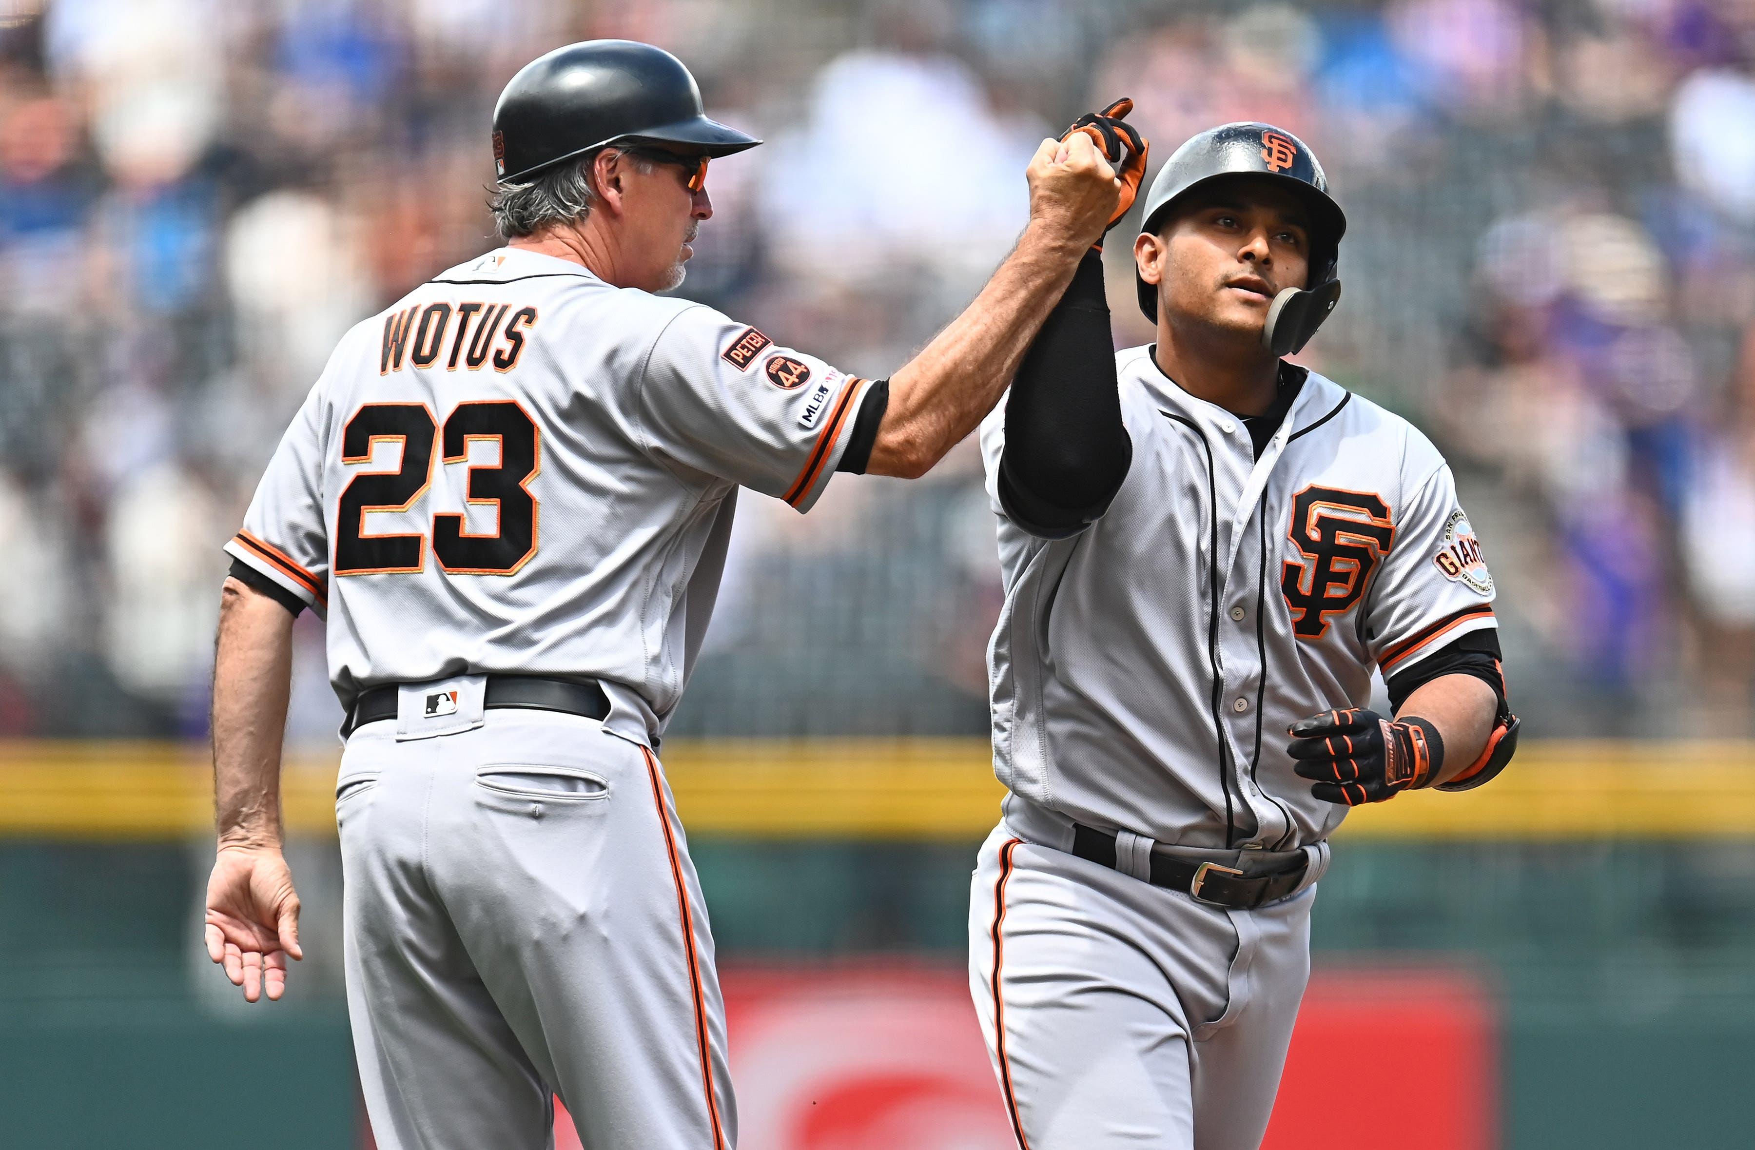
<path id="1" fill-rule="evenodd" d="M 1121 490 L 1134 441 L 1121 423 L 1102 253 L 1090 251 L 1023 355 L 1006 400 L 999 493 L 1035 535 L 1076 534 Z"/>

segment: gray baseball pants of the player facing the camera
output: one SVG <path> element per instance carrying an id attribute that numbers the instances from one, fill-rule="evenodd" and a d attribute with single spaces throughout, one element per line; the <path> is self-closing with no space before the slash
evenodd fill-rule
<path id="1" fill-rule="evenodd" d="M 1313 901 L 1225 909 L 1000 823 L 971 888 L 969 987 L 1020 1150 L 1257 1150 Z"/>

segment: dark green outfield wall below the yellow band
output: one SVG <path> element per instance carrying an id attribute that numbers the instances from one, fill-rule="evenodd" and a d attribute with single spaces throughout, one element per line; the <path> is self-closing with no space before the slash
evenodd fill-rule
<path id="1" fill-rule="evenodd" d="M 758 834 L 723 811 L 695 820 L 711 801 L 698 780 L 691 799 L 677 790 L 684 818 L 709 823 L 691 848 L 727 966 L 960 962 L 978 834 Z M 181 823 L 0 834 L 0 1145 L 358 1145 L 333 837 L 305 827 L 291 846 L 311 959 L 272 1008 L 235 1003 L 198 952 L 211 850 Z M 1755 834 L 1723 820 L 1701 834 L 1343 834 L 1313 945 L 1320 967 L 1462 969 L 1488 987 L 1504 1146 L 1755 1141 Z"/>

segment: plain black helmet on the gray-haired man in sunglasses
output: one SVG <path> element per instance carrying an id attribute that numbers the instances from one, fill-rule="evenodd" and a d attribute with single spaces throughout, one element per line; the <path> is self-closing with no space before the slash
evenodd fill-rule
<path id="1" fill-rule="evenodd" d="M 760 142 L 707 119 L 683 61 L 635 40 L 583 40 L 537 56 L 493 105 L 493 170 L 502 183 L 609 144 L 681 144 L 728 156 Z"/>

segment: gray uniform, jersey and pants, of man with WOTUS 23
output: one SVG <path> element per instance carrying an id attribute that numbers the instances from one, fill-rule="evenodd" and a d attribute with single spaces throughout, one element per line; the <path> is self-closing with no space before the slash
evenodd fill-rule
<path id="1" fill-rule="evenodd" d="M 393 725 L 347 736 L 337 797 L 384 1150 L 549 1145 L 553 1092 L 590 1146 L 735 1146 L 707 909 L 649 748 L 737 486 L 809 509 L 865 393 L 518 249 L 340 341 L 226 550 L 326 613 L 344 702 L 400 685 Z M 597 678 L 611 713 L 488 711 L 497 672 Z"/>

